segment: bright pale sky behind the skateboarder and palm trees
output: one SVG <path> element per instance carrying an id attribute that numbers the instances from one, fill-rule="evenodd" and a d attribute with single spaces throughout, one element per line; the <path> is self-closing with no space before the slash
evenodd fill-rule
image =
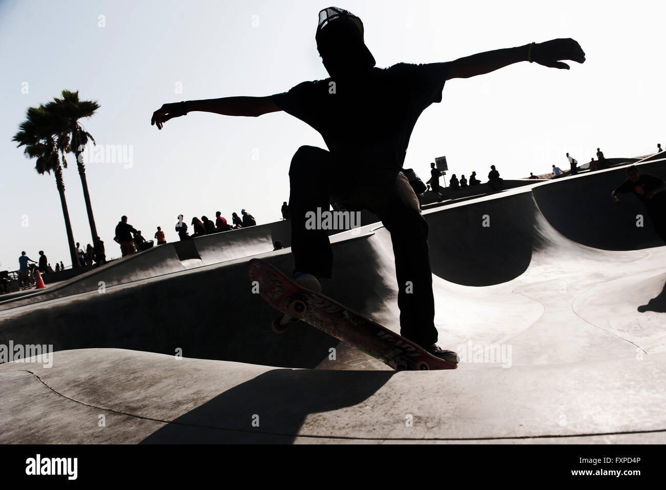
<path id="1" fill-rule="evenodd" d="M 587 162 L 655 152 L 663 131 L 666 3 L 657 1 L 368 1 L 337 6 L 364 21 L 378 67 L 450 61 L 481 51 L 573 37 L 587 55 L 571 70 L 519 63 L 446 83 L 426 109 L 406 167 L 428 178 L 446 155 L 450 173 L 504 178 L 565 168 L 565 152 Z M 304 122 L 190 113 L 150 125 L 163 103 L 270 95 L 325 78 L 312 0 L 3 1 L 0 3 L 0 268 L 18 268 L 21 250 L 55 267 L 71 263 L 53 175 L 11 141 L 25 111 L 63 89 L 101 105 L 83 120 L 100 146 L 123 145 L 131 162 L 89 162 L 87 179 L 107 258 L 123 214 L 153 238 L 177 240 L 176 216 L 230 219 L 245 208 L 259 224 L 280 218 L 288 167 L 302 144 L 324 146 Z M 100 17 L 103 16 L 103 17 Z M 390 103 L 390 101 L 387 101 Z M 92 242 L 75 158 L 64 172 L 75 241 Z M 447 179 L 448 180 L 448 179 Z"/>

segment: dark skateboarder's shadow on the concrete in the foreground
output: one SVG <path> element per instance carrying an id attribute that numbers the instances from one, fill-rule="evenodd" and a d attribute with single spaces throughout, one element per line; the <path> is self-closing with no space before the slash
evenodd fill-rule
<path id="1" fill-rule="evenodd" d="M 273 369 L 220 393 L 141 443 L 291 443 L 308 415 L 358 405 L 395 374 Z M 347 424 L 353 420 L 340 420 L 340 429 Z"/>

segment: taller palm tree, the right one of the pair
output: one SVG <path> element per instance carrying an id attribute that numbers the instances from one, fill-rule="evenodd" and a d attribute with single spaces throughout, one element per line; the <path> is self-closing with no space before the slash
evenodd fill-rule
<path id="1" fill-rule="evenodd" d="M 70 92 L 63 90 L 62 99 L 55 97 L 53 101 L 46 105 L 49 111 L 57 121 L 57 146 L 63 156 L 63 164 L 67 167 L 65 153 L 72 152 L 76 156 L 77 166 L 79 167 L 79 176 L 81 177 L 81 186 L 83 186 L 83 198 L 88 212 L 88 222 L 90 232 L 93 236 L 92 243 L 95 243 L 97 236 L 97 227 L 93 217 L 93 206 L 88 192 L 88 182 L 85 177 L 85 165 L 83 164 L 83 150 L 88 140 L 95 144 L 93 136 L 87 132 L 79 123 L 83 117 L 91 117 L 99 109 L 97 101 L 80 101 L 79 92 Z"/>

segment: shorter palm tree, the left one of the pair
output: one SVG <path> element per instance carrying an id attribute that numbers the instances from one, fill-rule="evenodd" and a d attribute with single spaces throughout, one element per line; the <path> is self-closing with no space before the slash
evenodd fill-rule
<path id="1" fill-rule="evenodd" d="M 48 173 L 55 175 L 55 184 L 60 194 L 60 203 L 63 206 L 65 228 L 67 229 L 67 241 L 69 242 L 69 254 L 72 259 L 72 267 L 79 266 L 76 248 L 74 246 L 74 234 L 69 222 L 69 211 L 67 200 L 65 200 L 65 183 L 63 182 L 63 168 L 60 164 L 58 141 L 53 137 L 56 121 L 46 111 L 44 105 L 29 107 L 25 121 L 19 125 L 19 132 L 15 134 L 12 141 L 25 146 L 23 153 L 29 158 L 37 158 L 35 170 L 41 175 Z M 63 162 L 67 167 L 67 163 Z"/>

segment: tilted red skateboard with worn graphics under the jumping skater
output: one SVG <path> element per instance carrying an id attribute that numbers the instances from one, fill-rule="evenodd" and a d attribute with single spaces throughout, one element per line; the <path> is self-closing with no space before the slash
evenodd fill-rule
<path id="1" fill-rule="evenodd" d="M 326 332 L 396 371 L 456 369 L 455 363 L 436 358 L 410 340 L 314 291 L 302 288 L 268 262 L 253 258 L 248 263 L 250 282 L 259 295 L 282 312 L 272 329 L 282 333 L 297 321 Z"/>

